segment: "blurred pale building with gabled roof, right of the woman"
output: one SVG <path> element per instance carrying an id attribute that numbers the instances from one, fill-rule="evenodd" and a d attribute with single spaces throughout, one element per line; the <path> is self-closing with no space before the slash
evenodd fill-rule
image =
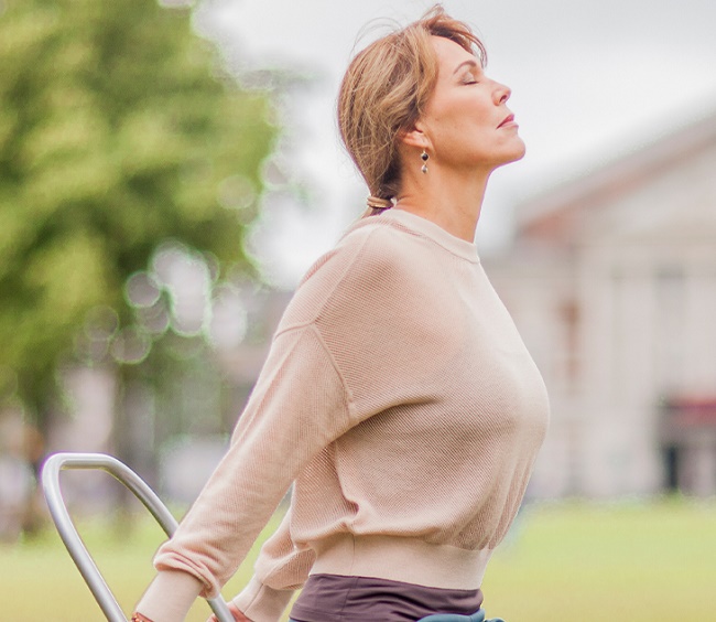
<path id="1" fill-rule="evenodd" d="M 485 264 L 552 399 L 534 495 L 716 494 L 716 115 L 522 204 Z"/>

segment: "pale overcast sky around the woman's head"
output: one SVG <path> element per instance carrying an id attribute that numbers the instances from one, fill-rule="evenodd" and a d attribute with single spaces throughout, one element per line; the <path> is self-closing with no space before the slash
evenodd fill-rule
<path id="1" fill-rule="evenodd" d="M 478 244 L 510 235 L 514 204 L 531 194 L 716 114 L 715 0 L 445 0 L 488 49 L 487 73 L 512 88 L 528 146 L 490 181 Z M 284 286 L 362 211 L 366 189 L 338 143 L 338 83 L 361 29 L 406 23 L 424 0 L 219 0 L 211 24 L 250 67 L 313 76 L 285 109 L 288 167 L 307 183 L 308 206 L 267 206 L 257 248 Z M 206 19 L 203 20 L 206 23 Z M 365 36 L 357 49 L 370 41 Z M 362 41 L 362 43 L 361 43 Z"/>

